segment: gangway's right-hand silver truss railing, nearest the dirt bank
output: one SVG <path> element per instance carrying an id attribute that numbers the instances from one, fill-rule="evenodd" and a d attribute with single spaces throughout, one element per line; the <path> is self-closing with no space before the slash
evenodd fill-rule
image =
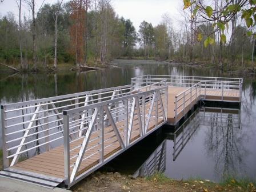
<path id="1" fill-rule="evenodd" d="M 85 113 L 90 115 L 81 118 Z M 167 86 L 161 82 L 155 89 L 63 114 L 65 184 L 70 187 L 166 123 Z M 77 136 L 80 125 L 82 137 Z"/>

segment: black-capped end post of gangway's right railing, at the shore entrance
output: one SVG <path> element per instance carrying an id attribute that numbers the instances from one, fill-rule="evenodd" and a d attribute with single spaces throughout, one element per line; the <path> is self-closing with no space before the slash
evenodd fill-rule
<path id="1" fill-rule="evenodd" d="M 63 111 L 63 127 L 64 127 L 64 175 L 65 187 L 70 186 L 70 146 L 69 146 L 69 115 Z"/>

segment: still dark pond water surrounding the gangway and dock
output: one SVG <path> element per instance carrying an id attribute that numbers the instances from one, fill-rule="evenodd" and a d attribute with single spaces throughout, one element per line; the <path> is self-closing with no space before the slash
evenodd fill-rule
<path id="1" fill-rule="evenodd" d="M 238 77 L 215 69 L 155 61 L 115 60 L 113 63 L 122 69 L 28 75 L 0 72 L 0 102 L 13 103 L 127 85 L 131 77 L 145 74 Z M 193 177 L 216 182 L 224 175 L 256 179 L 256 79 L 244 77 L 243 80 L 239 110 L 226 113 L 207 107 L 197 109 L 175 133 L 176 140 L 171 133 L 173 130 L 163 127 L 102 169 L 134 175 L 159 170 L 170 178 Z"/>

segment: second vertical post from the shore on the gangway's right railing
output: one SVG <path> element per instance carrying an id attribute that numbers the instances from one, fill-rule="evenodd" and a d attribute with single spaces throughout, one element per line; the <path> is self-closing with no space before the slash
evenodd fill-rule
<path id="1" fill-rule="evenodd" d="M 104 161 L 104 114 L 103 107 L 99 111 L 99 162 Z"/>

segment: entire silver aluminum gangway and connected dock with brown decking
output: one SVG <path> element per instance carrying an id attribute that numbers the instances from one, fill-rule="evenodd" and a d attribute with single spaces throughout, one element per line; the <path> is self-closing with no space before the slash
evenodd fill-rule
<path id="1" fill-rule="evenodd" d="M 241 102 L 242 83 L 143 75 L 131 85 L 1 105 L 0 175 L 70 188 L 199 101 Z"/>

